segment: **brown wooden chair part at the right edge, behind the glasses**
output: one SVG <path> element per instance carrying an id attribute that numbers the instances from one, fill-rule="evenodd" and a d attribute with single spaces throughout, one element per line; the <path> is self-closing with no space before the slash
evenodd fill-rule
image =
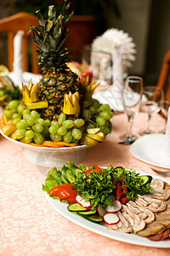
<path id="1" fill-rule="evenodd" d="M 165 97 L 170 98 L 170 49 L 167 51 L 164 56 L 162 65 L 161 65 L 161 73 L 159 75 L 157 87 L 166 91 Z"/>

